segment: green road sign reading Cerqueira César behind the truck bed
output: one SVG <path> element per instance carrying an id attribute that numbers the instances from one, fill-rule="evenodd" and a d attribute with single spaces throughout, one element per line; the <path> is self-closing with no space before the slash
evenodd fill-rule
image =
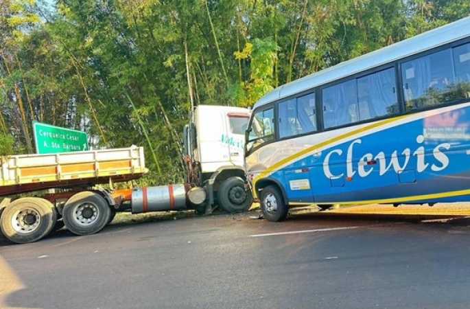
<path id="1" fill-rule="evenodd" d="M 89 150 L 88 135 L 82 131 L 40 122 L 34 122 L 33 129 L 38 154 Z"/>

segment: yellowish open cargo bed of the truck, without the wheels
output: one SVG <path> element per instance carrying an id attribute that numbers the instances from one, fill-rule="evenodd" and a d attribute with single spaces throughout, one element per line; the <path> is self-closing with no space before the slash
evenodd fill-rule
<path id="1" fill-rule="evenodd" d="M 139 179 L 143 148 L 117 148 L 1 158 L 0 196 Z"/>

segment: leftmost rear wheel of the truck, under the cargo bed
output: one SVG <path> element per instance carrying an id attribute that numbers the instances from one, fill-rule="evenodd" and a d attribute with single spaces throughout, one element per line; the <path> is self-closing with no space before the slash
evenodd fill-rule
<path id="1" fill-rule="evenodd" d="M 47 236 L 57 220 L 51 202 L 36 197 L 19 198 L 8 205 L 1 216 L 3 235 L 19 244 L 36 242 Z"/>

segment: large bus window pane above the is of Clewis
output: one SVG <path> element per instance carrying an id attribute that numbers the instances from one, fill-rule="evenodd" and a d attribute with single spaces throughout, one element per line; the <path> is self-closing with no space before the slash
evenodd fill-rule
<path id="1" fill-rule="evenodd" d="M 455 81 L 451 49 L 404 62 L 401 78 L 407 111 L 448 102 Z"/>

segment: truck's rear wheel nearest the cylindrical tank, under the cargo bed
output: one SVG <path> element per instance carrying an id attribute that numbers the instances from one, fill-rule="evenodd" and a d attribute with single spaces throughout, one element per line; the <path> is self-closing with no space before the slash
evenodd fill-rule
<path id="1" fill-rule="evenodd" d="M 91 235 L 103 229 L 110 219 L 110 207 L 102 196 L 84 191 L 65 203 L 62 218 L 65 227 L 77 235 Z"/>

